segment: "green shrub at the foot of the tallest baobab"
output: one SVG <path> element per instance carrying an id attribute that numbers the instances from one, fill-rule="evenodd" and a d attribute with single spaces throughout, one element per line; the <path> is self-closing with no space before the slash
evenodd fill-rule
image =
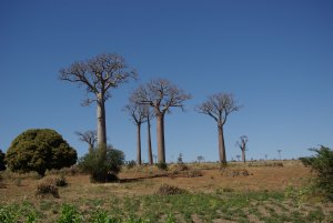
<path id="1" fill-rule="evenodd" d="M 92 182 L 112 182 L 124 162 L 124 153 L 112 145 L 93 149 L 79 161 L 83 172 L 90 174 Z"/>

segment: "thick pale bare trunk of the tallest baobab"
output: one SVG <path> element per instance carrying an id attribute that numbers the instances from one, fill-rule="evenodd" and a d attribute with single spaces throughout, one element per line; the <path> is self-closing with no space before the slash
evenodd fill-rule
<path id="1" fill-rule="evenodd" d="M 105 107 L 102 95 L 98 95 L 97 103 L 97 118 L 98 118 L 98 146 L 107 145 L 107 124 L 105 124 Z"/>

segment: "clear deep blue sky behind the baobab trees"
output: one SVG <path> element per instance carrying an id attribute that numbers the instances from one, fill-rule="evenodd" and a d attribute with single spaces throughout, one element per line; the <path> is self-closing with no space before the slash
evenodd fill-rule
<path id="1" fill-rule="evenodd" d="M 333 1 L 0 1 L 0 148 L 31 128 L 57 130 L 82 155 L 75 131 L 95 129 L 84 89 L 59 70 L 103 52 L 122 54 L 139 81 L 107 102 L 108 139 L 135 159 L 129 93 L 165 78 L 192 94 L 165 118 L 167 160 L 218 160 L 216 124 L 193 111 L 206 95 L 233 93 L 243 109 L 224 126 L 228 159 L 249 136 L 248 158 L 310 155 L 333 148 Z M 157 153 L 155 123 L 152 123 Z M 143 154 L 147 134 L 143 126 Z"/>

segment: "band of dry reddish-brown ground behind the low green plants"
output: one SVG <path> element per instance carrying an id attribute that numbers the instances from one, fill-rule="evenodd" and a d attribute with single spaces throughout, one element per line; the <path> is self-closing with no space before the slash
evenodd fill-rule
<path id="1" fill-rule="evenodd" d="M 230 178 L 219 169 L 216 163 L 189 165 L 191 170 L 199 170 L 201 166 L 202 176 L 188 178 L 186 174 L 179 175 L 159 171 L 155 166 L 139 166 L 131 170 L 124 170 L 120 173 L 119 183 L 93 184 L 89 175 L 67 175 L 67 182 L 70 186 L 60 187 L 60 200 L 70 202 L 78 199 L 103 197 L 108 195 L 148 195 L 153 194 L 155 189 L 162 184 L 175 185 L 186 189 L 190 192 L 214 192 L 221 189 L 233 189 L 233 191 L 283 191 L 287 186 L 300 187 L 311 178 L 310 170 L 304 168 L 297 161 L 284 162 L 284 166 L 248 166 L 240 163 L 233 163 L 229 170 L 245 169 L 248 176 Z M 173 166 L 170 166 L 172 172 Z M 169 172 L 169 173 L 170 173 Z M 31 175 L 31 174 L 30 174 Z M 16 185 L 16 178 L 21 179 L 21 185 Z M 34 175 L 18 175 L 2 180 L 0 189 L 0 201 L 36 201 L 34 191 L 38 180 Z M 154 189 L 154 190 L 152 190 Z M 36 201 L 39 202 L 39 201 Z"/>

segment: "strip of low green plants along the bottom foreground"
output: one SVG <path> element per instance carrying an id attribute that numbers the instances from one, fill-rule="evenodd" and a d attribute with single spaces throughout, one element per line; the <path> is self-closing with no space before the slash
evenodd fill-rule
<path id="1" fill-rule="evenodd" d="M 59 203 L 1 204 L 1 222 L 332 222 L 323 206 L 299 206 L 279 192 L 143 195 Z"/>

